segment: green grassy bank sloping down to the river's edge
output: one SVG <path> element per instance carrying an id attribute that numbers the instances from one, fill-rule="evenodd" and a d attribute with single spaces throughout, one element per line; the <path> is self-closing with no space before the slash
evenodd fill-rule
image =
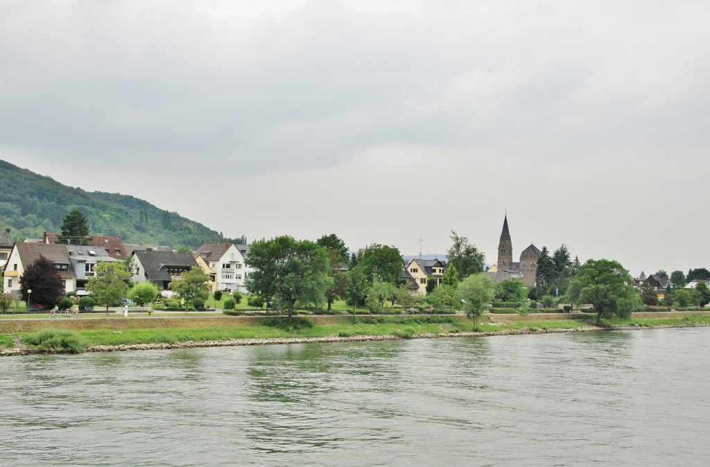
<path id="1" fill-rule="evenodd" d="M 136 346 L 138 344 L 180 344 L 243 340 L 332 339 L 357 336 L 391 336 L 410 339 L 420 336 L 457 336 L 471 333 L 517 334 L 589 329 L 630 329 L 638 327 L 710 326 L 710 313 L 660 314 L 658 317 L 633 317 L 606 321 L 601 328 L 593 325 L 594 315 L 560 315 L 558 319 L 540 317 L 506 317 L 498 321 L 484 316 L 478 324 L 460 316 L 363 316 L 297 318 L 289 324 L 285 317 L 272 319 L 204 318 L 204 319 L 95 319 L 50 321 L 48 326 L 15 329 L 29 348 L 37 351 L 82 351 L 97 346 Z M 65 324 L 66 323 L 66 324 Z M 6 324 L 6 322 L 4 323 Z M 53 325 L 65 324 L 63 328 Z M 119 325 L 120 324 L 120 325 Z M 128 326 L 130 324 L 130 326 Z M 71 325 L 71 329 L 67 326 Z M 21 326 L 20 326 L 21 327 Z M 9 334 L 0 334 L 0 350 L 11 348 Z"/>

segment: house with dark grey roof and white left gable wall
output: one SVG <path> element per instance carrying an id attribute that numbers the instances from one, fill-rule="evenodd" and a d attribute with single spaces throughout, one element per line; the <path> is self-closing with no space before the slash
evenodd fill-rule
<path id="1" fill-rule="evenodd" d="M 174 251 L 133 251 L 133 282 L 153 282 L 158 290 L 168 290 L 170 281 L 180 274 L 197 268 L 197 261 L 190 253 Z"/>

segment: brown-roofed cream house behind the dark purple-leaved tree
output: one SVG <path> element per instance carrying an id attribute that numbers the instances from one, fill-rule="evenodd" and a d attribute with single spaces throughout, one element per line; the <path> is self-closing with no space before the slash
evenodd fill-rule
<path id="1" fill-rule="evenodd" d="M 76 289 L 77 276 L 69 259 L 69 251 L 64 245 L 48 245 L 46 243 L 15 243 L 3 273 L 3 290 L 18 294 L 20 291 L 20 278 L 25 268 L 40 257 L 49 258 L 59 270 L 65 282 L 65 290 L 73 292 Z"/>

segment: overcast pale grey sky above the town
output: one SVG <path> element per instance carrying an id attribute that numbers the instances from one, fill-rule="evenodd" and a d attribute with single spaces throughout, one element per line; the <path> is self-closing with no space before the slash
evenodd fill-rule
<path id="1" fill-rule="evenodd" d="M 0 3 L 0 158 L 249 240 L 710 268 L 707 1 Z"/>

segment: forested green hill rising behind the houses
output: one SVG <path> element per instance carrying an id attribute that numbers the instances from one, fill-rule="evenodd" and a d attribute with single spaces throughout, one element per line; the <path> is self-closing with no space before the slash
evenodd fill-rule
<path id="1" fill-rule="evenodd" d="M 196 248 L 206 242 L 230 241 L 143 199 L 85 192 L 0 160 L 0 229 L 12 229 L 15 241 L 60 231 L 62 220 L 75 208 L 86 216 L 91 234 L 120 236 L 126 243 Z"/>

